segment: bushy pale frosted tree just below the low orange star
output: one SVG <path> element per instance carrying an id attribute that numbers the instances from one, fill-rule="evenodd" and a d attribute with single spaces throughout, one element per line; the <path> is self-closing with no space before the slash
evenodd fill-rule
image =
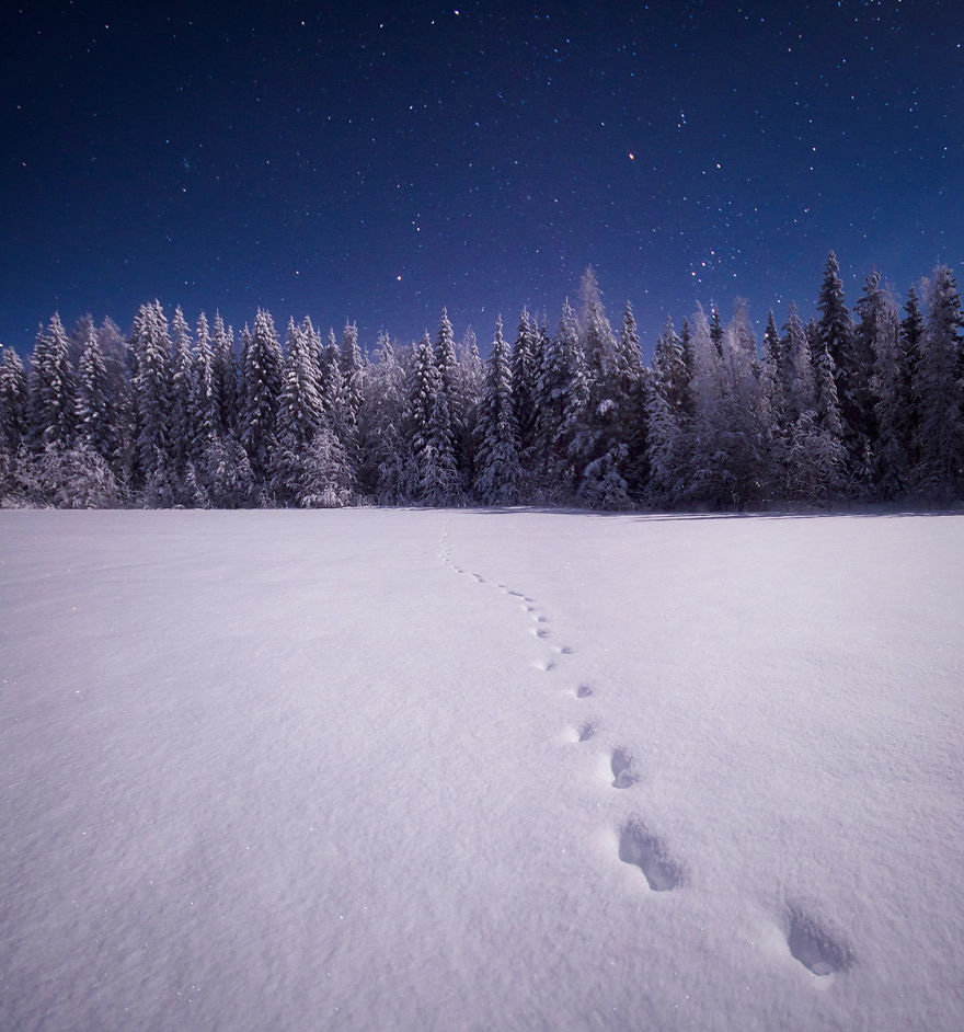
<path id="1" fill-rule="evenodd" d="M 398 505 L 405 500 L 404 437 L 405 372 L 385 331 L 378 336 L 375 364 L 366 381 L 362 405 L 360 488 L 379 505 Z"/>

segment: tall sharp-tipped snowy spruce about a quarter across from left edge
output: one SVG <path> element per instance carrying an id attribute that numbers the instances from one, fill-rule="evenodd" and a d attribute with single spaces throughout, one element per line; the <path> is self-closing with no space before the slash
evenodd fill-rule
<path id="1" fill-rule="evenodd" d="M 266 492 L 277 446 L 284 360 L 274 320 L 263 308 L 259 308 L 254 317 L 242 372 L 244 398 L 239 436 L 248 452 L 254 480 Z M 268 498 L 266 493 L 264 498 Z"/>

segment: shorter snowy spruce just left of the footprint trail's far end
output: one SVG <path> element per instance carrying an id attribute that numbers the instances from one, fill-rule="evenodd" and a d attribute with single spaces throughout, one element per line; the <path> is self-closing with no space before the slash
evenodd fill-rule
<path id="1" fill-rule="evenodd" d="M 408 416 L 411 473 L 406 493 L 425 505 L 454 504 L 460 485 L 451 416 L 427 333 L 415 348 L 409 375 Z"/>

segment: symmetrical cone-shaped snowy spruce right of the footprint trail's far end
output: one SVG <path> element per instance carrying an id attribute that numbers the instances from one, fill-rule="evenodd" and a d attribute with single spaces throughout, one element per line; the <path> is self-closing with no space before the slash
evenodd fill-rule
<path id="1" fill-rule="evenodd" d="M 475 434 L 479 439 L 477 496 L 485 505 L 518 504 L 523 469 L 513 410 L 512 354 L 502 334 L 502 318 L 495 326 Z"/>

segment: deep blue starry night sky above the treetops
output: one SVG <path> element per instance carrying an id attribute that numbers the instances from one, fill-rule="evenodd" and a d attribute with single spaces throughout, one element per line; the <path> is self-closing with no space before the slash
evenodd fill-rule
<path id="1" fill-rule="evenodd" d="M 644 351 L 964 270 L 961 0 L 22 3 L 2 16 L 0 342 L 257 306 L 487 351 L 596 267 Z M 337 13 L 330 13 L 337 9 Z M 319 13 L 322 11 L 323 13 Z"/>

